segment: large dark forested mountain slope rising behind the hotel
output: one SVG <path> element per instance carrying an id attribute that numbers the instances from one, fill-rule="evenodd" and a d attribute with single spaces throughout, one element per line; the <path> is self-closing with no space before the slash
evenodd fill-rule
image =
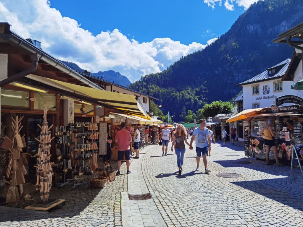
<path id="1" fill-rule="evenodd" d="M 291 47 L 272 40 L 302 21 L 303 0 L 258 1 L 215 43 L 130 87 L 159 98 L 164 113 L 169 110 L 175 120 L 183 120 L 184 110 L 230 100 L 241 90 L 237 83 L 291 58 Z"/>

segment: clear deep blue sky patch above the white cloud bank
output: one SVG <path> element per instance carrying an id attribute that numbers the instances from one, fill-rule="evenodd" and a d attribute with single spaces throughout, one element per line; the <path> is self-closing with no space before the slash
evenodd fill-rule
<path id="1" fill-rule="evenodd" d="M 169 37 L 186 45 L 204 44 L 225 33 L 244 12 L 242 7 L 213 9 L 203 0 L 51 0 L 51 6 L 94 34 L 118 28 L 139 42 Z"/>

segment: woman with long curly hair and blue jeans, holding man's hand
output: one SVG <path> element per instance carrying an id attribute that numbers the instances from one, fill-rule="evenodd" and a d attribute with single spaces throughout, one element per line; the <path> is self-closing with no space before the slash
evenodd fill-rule
<path id="1" fill-rule="evenodd" d="M 187 132 L 183 125 L 179 124 L 177 126 L 177 129 L 174 133 L 174 137 L 172 139 L 172 145 L 171 145 L 171 151 L 174 152 L 174 145 L 175 145 L 175 152 L 177 154 L 177 164 L 179 168 L 179 175 L 181 175 L 183 169 L 183 159 L 184 159 L 184 153 L 185 153 L 185 143 L 189 145 L 186 139 Z"/>

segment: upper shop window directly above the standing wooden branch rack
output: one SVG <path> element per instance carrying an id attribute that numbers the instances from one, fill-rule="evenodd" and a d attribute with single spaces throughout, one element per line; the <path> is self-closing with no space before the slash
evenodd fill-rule
<path id="1" fill-rule="evenodd" d="M 34 102 L 35 110 L 43 110 L 44 107 L 56 110 L 57 99 L 55 94 L 35 92 L 34 98 L 36 99 Z"/>

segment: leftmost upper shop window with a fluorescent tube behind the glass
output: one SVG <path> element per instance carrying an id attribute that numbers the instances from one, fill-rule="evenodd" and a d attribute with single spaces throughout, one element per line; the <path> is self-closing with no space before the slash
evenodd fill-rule
<path id="1" fill-rule="evenodd" d="M 1 105 L 28 107 L 28 92 L 18 90 L 1 90 Z"/>

